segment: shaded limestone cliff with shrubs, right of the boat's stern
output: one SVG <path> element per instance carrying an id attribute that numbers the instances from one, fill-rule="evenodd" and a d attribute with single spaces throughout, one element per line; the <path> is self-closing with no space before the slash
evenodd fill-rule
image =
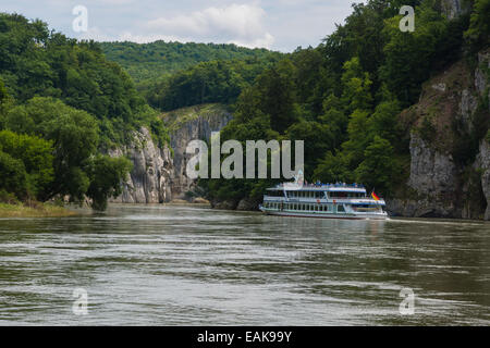
<path id="1" fill-rule="evenodd" d="M 489 55 L 480 52 L 476 69 L 462 61 L 436 76 L 402 113 L 412 124 L 409 194 L 388 202 L 391 213 L 490 219 Z"/>

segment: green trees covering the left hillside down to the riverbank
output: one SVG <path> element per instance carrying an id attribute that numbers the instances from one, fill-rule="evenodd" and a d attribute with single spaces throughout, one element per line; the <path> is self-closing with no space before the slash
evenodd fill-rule
<path id="1" fill-rule="evenodd" d="M 88 197 L 103 209 L 131 165 L 99 150 L 127 140 L 142 125 L 164 141 L 156 112 L 97 44 L 0 13 L 2 192 L 41 201 Z"/>

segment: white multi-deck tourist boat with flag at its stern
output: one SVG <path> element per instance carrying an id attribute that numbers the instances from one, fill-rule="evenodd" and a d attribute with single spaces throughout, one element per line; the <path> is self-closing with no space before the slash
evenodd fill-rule
<path id="1" fill-rule="evenodd" d="M 385 202 L 360 184 L 284 183 L 268 188 L 259 209 L 270 215 L 385 220 Z"/>

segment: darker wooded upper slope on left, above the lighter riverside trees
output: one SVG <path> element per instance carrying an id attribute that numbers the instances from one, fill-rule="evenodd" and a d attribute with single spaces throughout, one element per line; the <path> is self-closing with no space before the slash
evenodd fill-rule
<path id="1" fill-rule="evenodd" d="M 17 103 L 52 97 L 96 116 L 105 146 L 158 122 L 131 77 L 105 58 L 98 44 L 77 42 L 19 14 L 0 13 L 0 79 Z"/>

